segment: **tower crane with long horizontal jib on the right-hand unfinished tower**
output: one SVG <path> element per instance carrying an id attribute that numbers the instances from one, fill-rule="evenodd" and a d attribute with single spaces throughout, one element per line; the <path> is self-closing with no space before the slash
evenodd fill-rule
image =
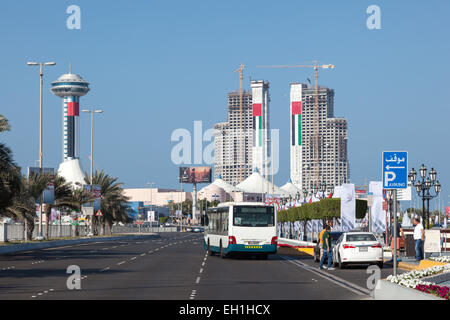
<path id="1" fill-rule="evenodd" d="M 314 69 L 314 87 L 315 87 L 315 123 L 314 123 L 314 137 L 315 137 L 315 145 L 314 145 L 314 159 L 316 162 L 315 168 L 315 177 L 316 181 L 319 181 L 319 86 L 318 86 L 318 78 L 319 78 L 319 68 L 322 69 L 334 69 L 336 66 L 333 64 L 322 64 L 319 65 L 316 60 L 313 61 L 313 65 L 279 65 L 279 66 L 257 66 L 258 68 L 313 68 Z"/>

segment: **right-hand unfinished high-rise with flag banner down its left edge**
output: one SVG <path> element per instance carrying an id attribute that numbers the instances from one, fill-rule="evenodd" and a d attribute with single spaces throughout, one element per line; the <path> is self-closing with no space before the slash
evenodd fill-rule
<path id="1" fill-rule="evenodd" d="M 315 88 L 291 84 L 291 180 L 308 191 L 319 182 L 338 186 L 347 183 L 349 178 L 347 120 L 334 117 L 334 90 L 319 87 L 318 100 L 317 144 Z"/>

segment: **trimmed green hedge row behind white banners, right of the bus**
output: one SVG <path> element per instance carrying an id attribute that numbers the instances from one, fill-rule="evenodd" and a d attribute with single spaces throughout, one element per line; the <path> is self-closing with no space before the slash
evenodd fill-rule
<path id="1" fill-rule="evenodd" d="M 362 219 L 367 212 L 367 201 L 356 199 L 356 219 Z M 306 203 L 278 212 L 279 222 L 295 222 L 308 220 L 331 220 L 341 217 L 341 199 L 326 198 L 318 202 Z"/>

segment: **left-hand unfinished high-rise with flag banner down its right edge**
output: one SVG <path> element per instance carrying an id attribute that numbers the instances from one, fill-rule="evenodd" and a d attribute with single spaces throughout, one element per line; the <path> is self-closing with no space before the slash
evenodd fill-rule
<path id="1" fill-rule="evenodd" d="M 214 177 L 236 185 L 255 168 L 266 176 L 269 83 L 251 81 L 252 91 L 228 93 L 228 119 L 214 125 Z M 242 116 L 242 121 L 241 121 Z"/>

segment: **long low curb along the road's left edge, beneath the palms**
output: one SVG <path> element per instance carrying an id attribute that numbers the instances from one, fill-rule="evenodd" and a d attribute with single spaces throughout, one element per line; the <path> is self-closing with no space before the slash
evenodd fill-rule
<path id="1" fill-rule="evenodd" d="M 28 250 L 37 250 L 37 249 L 46 249 L 46 248 L 54 248 L 54 247 L 63 247 L 70 246 L 74 244 L 80 243 L 88 243 L 88 242 L 107 242 L 107 241 L 115 241 L 122 239 L 142 239 L 142 238 L 160 238 L 159 234 L 147 234 L 147 235 L 124 235 L 124 236 L 115 236 L 115 237 L 102 237 L 102 238 L 84 238 L 84 239 L 74 239 L 74 240 L 54 240 L 48 242 L 40 242 L 40 243 L 24 243 L 17 245 L 8 245 L 4 247 L 0 247 L 0 254 L 8 254 L 15 253 L 21 251 Z"/>

